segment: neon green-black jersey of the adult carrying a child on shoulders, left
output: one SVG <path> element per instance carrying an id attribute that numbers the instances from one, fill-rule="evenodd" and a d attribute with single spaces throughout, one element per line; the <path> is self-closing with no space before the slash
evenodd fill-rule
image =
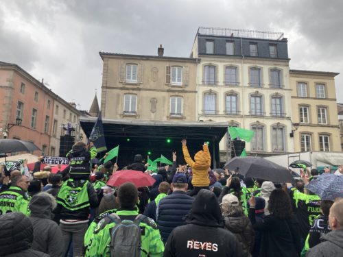
<path id="1" fill-rule="evenodd" d="M 82 187 L 76 186 L 72 178 L 64 182 L 56 197 L 56 202 L 67 210 L 80 210 L 89 206 L 87 184 L 84 181 Z"/>

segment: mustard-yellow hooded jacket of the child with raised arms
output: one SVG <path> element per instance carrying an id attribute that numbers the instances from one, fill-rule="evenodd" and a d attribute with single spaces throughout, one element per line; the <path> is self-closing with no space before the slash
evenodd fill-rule
<path id="1" fill-rule="evenodd" d="M 185 157 L 187 164 L 192 168 L 193 186 L 209 186 L 210 184 L 209 167 L 211 166 L 211 155 L 207 145 L 203 145 L 202 148 L 204 151 L 198 151 L 198 153 L 196 153 L 194 162 L 191 156 L 189 156 L 187 146 L 182 145 L 183 156 Z"/>

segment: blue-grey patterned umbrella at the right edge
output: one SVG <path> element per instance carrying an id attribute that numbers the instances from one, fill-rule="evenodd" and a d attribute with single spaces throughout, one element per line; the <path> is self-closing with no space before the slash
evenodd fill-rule
<path id="1" fill-rule="evenodd" d="M 305 188 L 319 195 L 323 200 L 335 200 L 343 197 L 343 176 L 323 173 L 316 180 L 311 180 Z"/>

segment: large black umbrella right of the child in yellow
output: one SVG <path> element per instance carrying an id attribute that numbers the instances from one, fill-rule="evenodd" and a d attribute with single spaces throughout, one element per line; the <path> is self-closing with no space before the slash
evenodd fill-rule
<path id="1" fill-rule="evenodd" d="M 285 167 L 261 157 L 235 157 L 225 164 L 224 169 L 236 171 L 249 178 L 294 183 L 294 178 Z"/>

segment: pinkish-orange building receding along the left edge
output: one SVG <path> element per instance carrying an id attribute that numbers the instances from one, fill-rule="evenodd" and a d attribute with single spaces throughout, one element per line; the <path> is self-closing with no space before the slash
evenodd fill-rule
<path id="1" fill-rule="evenodd" d="M 78 124 L 75 105 L 53 93 L 16 64 L 0 62 L 0 138 L 28 140 L 41 151 L 58 156 L 63 125 Z"/>

